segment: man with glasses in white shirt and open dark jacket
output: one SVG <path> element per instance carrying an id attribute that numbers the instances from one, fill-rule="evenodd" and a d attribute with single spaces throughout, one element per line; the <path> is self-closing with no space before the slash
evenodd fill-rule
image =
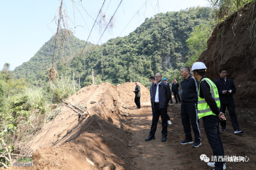
<path id="1" fill-rule="evenodd" d="M 166 141 L 167 137 L 167 107 L 168 102 L 172 97 L 171 90 L 169 85 L 162 82 L 162 75 L 160 73 L 156 73 L 155 75 L 156 83 L 152 85 L 152 107 L 153 107 L 153 117 L 152 117 L 152 125 L 149 132 L 149 136 L 145 139 L 145 141 L 150 141 L 155 138 L 156 127 L 159 120 L 159 116 L 162 119 L 162 142 Z"/>

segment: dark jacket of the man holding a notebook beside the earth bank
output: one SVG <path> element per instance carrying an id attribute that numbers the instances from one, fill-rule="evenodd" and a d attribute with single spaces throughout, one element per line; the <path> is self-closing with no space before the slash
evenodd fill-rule
<path id="1" fill-rule="evenodd" d="M 229 79 L 229 78 L 226 78 L 226 82 L 223 78 L 219 78 L 217 80 L 214 81 L 214 84 L 217 86 L 218 88 L 218 93 L 219 93 L 219 96 L 220 96 L 220 102 L 223 103 L 223 104 L 226 104 L 226 103 L 234 103 L 234 99 L 233 99 L 233 93 L 236 92 L 236 87 L 235 87 L 235 84 L 234 82 Z M 232 90 L 232 93 L 226 93 L 226 94 L 223 94 L 222 91 L 223 90 Z"/>

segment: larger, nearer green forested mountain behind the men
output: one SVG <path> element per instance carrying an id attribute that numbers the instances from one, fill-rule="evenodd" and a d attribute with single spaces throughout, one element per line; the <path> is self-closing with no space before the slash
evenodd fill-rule
<path id="1" fill-rule="evenodd" d="M 196 25 L 206 24 L 211 18 L 208 7 L 156 14 L 129 35 L 110 39 L 91 56 L 82 56 L 77 71 L 82 80 L 93 68 L 103 81 L 113 84 L 147 82 L 157 72 L 183 66 L 191 56 L 186 43 L 189 34 Z"/>

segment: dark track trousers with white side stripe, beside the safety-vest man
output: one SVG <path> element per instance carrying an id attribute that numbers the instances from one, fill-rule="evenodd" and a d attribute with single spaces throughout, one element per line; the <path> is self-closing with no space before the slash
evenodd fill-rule
<path id="1" fill-rule="evenodd" d="M 190 120 L 190 121 L 189 121 Z M 199 119 L 197 116 L 197 104 L 181 104 L 181 122 L 185 132 L 186 139 L 192 140 L 190 122 L 195 135 L 195 141 L 201 142 L 201 133 L 199 128 Z"/>

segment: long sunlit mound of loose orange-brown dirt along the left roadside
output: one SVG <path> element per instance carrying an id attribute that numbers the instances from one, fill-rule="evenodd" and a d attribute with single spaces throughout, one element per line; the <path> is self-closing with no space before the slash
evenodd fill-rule
<path id="1" fill-rule="evenodd" d="M 141 102 L 150 100 L 141 85 Z M 33 167 L 19 169 L 124 169 L 131 160 L 129 111 L 135 108 L 135 83 L 103 83 L 80 89 L 67 101 L 87 107 L 90 117 L 61 107 L 61 114 L 31 141 Z M 15 169 L 17 167 L 12 167 Z M 126 168 L 126 169 L 129 169 Z"/>

